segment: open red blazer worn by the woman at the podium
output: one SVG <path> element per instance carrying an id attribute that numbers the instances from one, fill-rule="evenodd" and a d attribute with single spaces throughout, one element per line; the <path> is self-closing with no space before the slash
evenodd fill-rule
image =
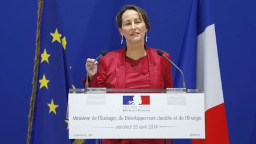
<path id="1" fill-rule="evenodd" d="M 146 47 L 151 88 L 172 88 L 171 63 L 164 57 L 159 56 L 156 50 Z M 171 59 L 168 53 L 164 52 L 164 55 Z M 126 88 L 125 58 L 126 47 L 114 50 L 101 57 L 98 65 L 98 73 L 92 77 L 89 87 Z M 85 81 L 86 78 L 83 79 L 84 84 Z"/>

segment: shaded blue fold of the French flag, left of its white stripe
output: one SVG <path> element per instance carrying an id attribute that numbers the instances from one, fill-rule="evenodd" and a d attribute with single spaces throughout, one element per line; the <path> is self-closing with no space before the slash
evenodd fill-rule
<path id="1" fill-rule="evenodd" d="M 187 88 L 196 88 L 196 56 L 197 56 L 197 1 L 191 2 L 190 13 L 181 46 L 178 67 L 183 71 Z M 180 72 L 176 72 L 174 87 L 182 87 Z"/>

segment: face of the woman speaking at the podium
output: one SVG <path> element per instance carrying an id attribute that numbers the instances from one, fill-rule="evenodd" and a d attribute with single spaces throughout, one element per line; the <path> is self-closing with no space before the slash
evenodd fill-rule
<path id="1" fill-rule="evenodd" d="M 122 25 L 119 31 L 121 36 L 125 37 L 126 43 L 138 43 L 144 41 L 148 30 L 144 21 L 140 19 L 139 13 L 128 9 L 122 15 Z"/>

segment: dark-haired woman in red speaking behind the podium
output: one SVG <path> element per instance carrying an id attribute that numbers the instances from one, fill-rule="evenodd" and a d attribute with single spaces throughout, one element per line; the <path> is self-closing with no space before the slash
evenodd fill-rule
<path id="1" fill-rule="evenodd" d="M 171 65 L 168 60 L 145 45 L 150 25 L 146 12 L 134 5 L 126 5 L 116 15 L 116 24 L 121 34 L 121 43 L 126 47 L 114 50 L 101 57 L 89 72 L 89 87 L 105 88 L 172 88 Z M 145 37 L 146 36 L 146 37 Z M 168 53 L 164 54 L 170 58 Z M 87 59 L 86 69 L 94 59 Z M 97 73 L 98 69 L 98 73 Z M 85 84 L 85 79 L 84 79 Z M 108 143 L 164 143 L 164 139 L 103 139 Z"/>

